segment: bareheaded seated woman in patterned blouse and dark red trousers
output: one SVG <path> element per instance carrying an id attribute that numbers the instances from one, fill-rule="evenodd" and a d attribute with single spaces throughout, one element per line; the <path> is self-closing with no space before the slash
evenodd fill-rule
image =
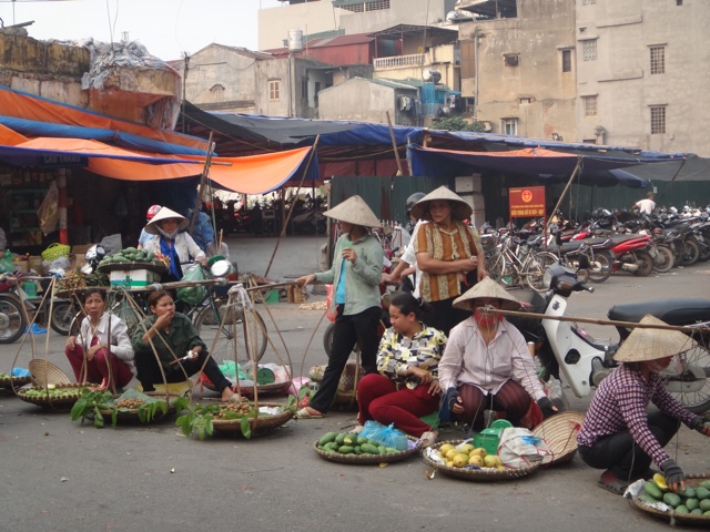
<path id="1" fill-rule="evenodd" d="M 419 301 L 399 293 L 389 305 L 392 327 L 385 331 L 377 352 L 377 370 L 357 386 L 358 432 L 368 419 L 395 427 L 422 440 L 425 446 L 438 434 L 419 418 L 439 406 L 437 366 L 446 335 L 420 321 Z"/>

